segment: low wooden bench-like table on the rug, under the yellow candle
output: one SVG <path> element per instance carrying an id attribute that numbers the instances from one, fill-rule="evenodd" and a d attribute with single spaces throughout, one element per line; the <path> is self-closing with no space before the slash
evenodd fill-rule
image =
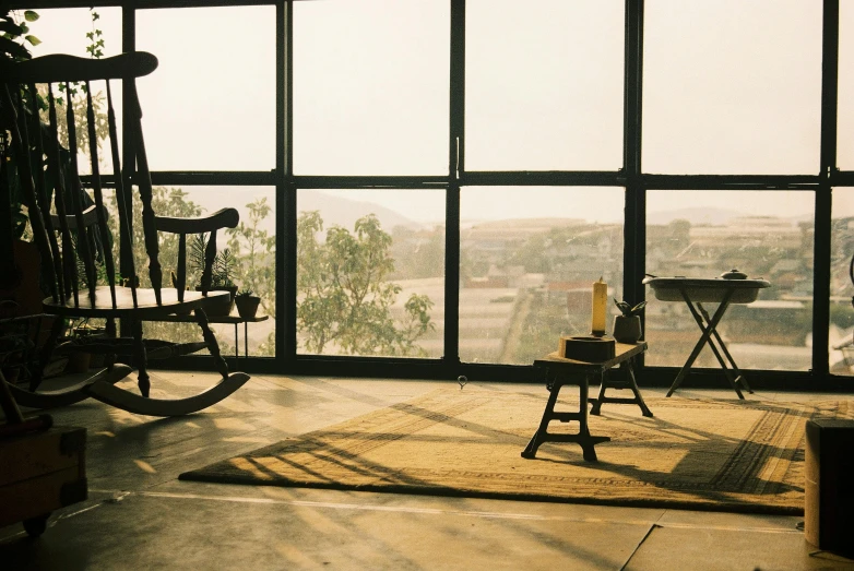
<path id="1" fill-rule="evenodd" d="M 631 368 L 631 360 L 647 350 L 647 343 L 641 342 L 634 345 L 617 343 L 616 356 L 613 359 L 603 362 L 585 362 L 574 359 L 559 357 L 557 352 L 550 353 L 534 361 L 534 367 L 541 367 L 546 370 L 546 383 L 549 390 L 548 402 L 543 412 L 543 419 L 539 421 L 539 428 L 534 433 L 531 442 L 522 452 L 522 457 L 533 459 L 536 451 L 543 442 L 577 442 L 584 451 L 584 460 L 588 462 L 596 461 L 596 451 L 593 448 L 600 442 L 607 442 L 610 437 L 594 437 L 590 435 L 588 427 L 588 402 L 593 403 L 591 414 L 598 414 L 603 403 L 637 404 L 643 416 L 652 416 L 647 403 L 638 390 L 634 380 L 634 371 Z M 626 381 L 608 381 L 605 372 L 615 365 L 627 369 Z M 601 377 L 602 385 L 600 388 L 598 398 L 588 398 L 591 377 Z M 579 409 L 578 412 L 555 412 L 555 403 L 560 389 L 566 384 L 578 385 L 579 388 Z M 629 388 L 634 393 L 633 398 L 612 398 L 605 396 L 605 389 Z M 574 435 L 556 435 L 548 431 L 548 423 L 559 420 L 569 423 L 577 420 L 579 431 Z"/>

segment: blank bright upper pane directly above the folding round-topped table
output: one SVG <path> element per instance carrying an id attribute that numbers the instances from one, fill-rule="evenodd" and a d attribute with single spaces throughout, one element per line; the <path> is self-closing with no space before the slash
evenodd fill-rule
<path id="1" fill-rule="evenodd" d="M 643 169 L 819 170 L 821 2 L 650 0 Z"/>

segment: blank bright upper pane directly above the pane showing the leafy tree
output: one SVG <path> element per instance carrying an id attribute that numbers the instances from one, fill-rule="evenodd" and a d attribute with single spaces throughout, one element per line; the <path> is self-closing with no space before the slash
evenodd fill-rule
<path id="1" fill-rule="evenodd" d="M 450 2 L 294 3 L 294 171 L 448 173 Z"/>

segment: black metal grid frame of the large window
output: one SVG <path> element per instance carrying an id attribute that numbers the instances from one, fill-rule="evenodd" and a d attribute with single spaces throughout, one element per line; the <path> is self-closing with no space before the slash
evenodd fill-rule
<path id="1" fill-rule="evenodd" d="M 122 49 L 135 44 L 135 10 L 216 5 L 274 5 L 276 9 L 276 165 L 270 171 L 156 171 L 157 185 L 273 186 L 276 192 L 276 264 L 278 270 L 276 356 L 254 357 L 247 370 L 271 373 L 340 374 L 502 381 L 539 380 L 531 366 L 463 364 L 459 357 L 460 188 L 463 186 L 607 186 L 626 189 L 624 226 L 624 293 L 627 300 L 643 299 L 645 273 L 647 189 L 680 190 L 802 190 L 815 194 L 815 255 L 813 364 L 809 371 L 750 371 L 751 383 L 761 388 L 822 390 L 845 388 L 845 378 L 829 373 L 830 249 L 832 187 L 854 187 L 854 170 L 837 165 L 838 67 L 840 0 L 822 0 L 821 135 L 820 169 L 815 175 L 654 175 L 641 165 L 643 97 L 643 0 L 625 0 L 625 81 L 622 166 L 608 171 L 470 171 L 465 168 L 465 0 L 446 0 L 451 5 L 450 112 L 448 174 L 430 177 L 323 177 L 293 173 L 293 29 L 294 2 L 311 0 L 19 0 L 12 8 L 88 8 L 93 4 L 122 8 Z M 16 7 L 14 4 L 17 4 Z M 130 90 L 124 90 L 129 93 Z M 124 105 L 124 109 L 129 109 Z M 131 164 L 124 142 L 124 164 Z M 444 356 L 440 359 L 318 357 L 297 354 L 296 347 L 296 189 L 301 188 L 441 188 L 446 191 L 446 329 Z M 128 186 L 128 188 L 130 188 Z M 201 358 L 201 357 L 199 357 Z M 198 358 L 197 358 L 198 359 Z M 641 359 L 642 361 L 642 359 Z M 198 367 L 195 359 L 166 362 L 171 368 Z M 714 371 L 712 371 L 714 372 Z M 648 385 L 667 386 L 675 369 L 639 367 Z M 711 376 L 710 376 L 711 377 Z M 755 380 L 756 379 L 756 380 Z M 717 386 L 715 376 L 710 386 Z"/>

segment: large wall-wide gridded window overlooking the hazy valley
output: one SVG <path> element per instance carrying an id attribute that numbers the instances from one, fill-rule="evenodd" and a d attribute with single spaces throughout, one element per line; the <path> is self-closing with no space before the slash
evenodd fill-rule
<path id="1" fill-rule="evenodd" d="M 259 367 L 506 378 L 590 333 L 602 277 L 650 300 L 657 379 L 699 331 L 643 274 L 737 267 L 772 284 L 720 325 L 740 367 L 851 374 L 851 0 L 227 3 L 43 10 L 33 51 L 157 56 L 158 197 L 240 210 Z"/>

